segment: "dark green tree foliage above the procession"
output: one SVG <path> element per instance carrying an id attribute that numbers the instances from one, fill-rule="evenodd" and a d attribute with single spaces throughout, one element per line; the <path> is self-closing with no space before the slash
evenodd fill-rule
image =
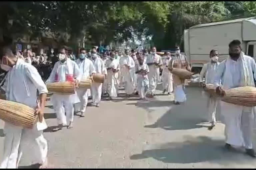
<path id="1" fill-rule="evenodd" d="M 253 15 L 254 1 L 10 1 L 0 2 L 0 35 L 33 39 L 52 33 L 80 45 L 153 36 L 164 49 L 182 45 L 184 29 L 193 25 Z"/>

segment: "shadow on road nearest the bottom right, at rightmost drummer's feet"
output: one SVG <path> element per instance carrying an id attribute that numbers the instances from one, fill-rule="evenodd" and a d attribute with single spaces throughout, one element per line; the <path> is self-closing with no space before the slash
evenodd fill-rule
<path id="1" fill-rule="evenodd" d="M 170 142 L 156 149 L 144 150 L 141 154 L 134 154 L 130 157 L 131 160 L 144 158 L 154 158 L 164 163 L 197 163 L 205 161 L 217 161 L 221 164 L 229 164 L 232 162 L 241 162 L 241 149 L 236 149 L 232 152 L 225 150 L 223 140 L 212 140 L 207 136 L 199 136 L 179 143 Z M 234 153 L 236 152 L 236 153 Z M 251 161 L 253 158 L 244 156 L 246 160 Z"/>

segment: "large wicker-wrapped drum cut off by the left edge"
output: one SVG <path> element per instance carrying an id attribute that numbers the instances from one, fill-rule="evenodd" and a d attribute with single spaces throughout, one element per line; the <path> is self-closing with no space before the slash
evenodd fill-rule
<path id="1" fill-rule="evenodd" d="M 23 128 L 33 128 L 37 116 L 27 105 L 0 99 L 0 119 Z"/>

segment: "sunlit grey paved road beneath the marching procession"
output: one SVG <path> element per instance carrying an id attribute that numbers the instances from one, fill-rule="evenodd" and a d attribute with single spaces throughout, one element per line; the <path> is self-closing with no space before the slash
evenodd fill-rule
<path id="1" fill-rule="evenodd" d="M 187 102 L 176 106 L 172 95 L 138 101 L 124 98 L 121 91 L 115 102 L 102 101 L 100 108 L 88 107 L 86 117 L 75 116 L 73 129 L 56 132 L 51 131 L 56 115 L 48 102 L 49 128 L 44 135 L 49 142 L 49 167 L 256 168 L 255 159 L 241 149 L 224 150 L 223 124 L 207 129 L 206 97 L 201 89 L 187 87 L 186 93 Z M 0 155 L 3 140 L 0 137 Z M 20 167 L 28 167 L 32 158 L 24 153 Z"/>

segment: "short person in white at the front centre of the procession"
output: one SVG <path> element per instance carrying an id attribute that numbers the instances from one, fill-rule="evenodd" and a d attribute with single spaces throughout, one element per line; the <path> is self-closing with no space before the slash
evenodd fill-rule
<path id="1" fill-rule="evenodd" d="M 146 99 L 146 92 L 149 88 L 148 82 L 148 65 L 144 62 L 144 57 L 140 52 L 137 52 L 138 63 L 135 65 L 135 73 L 137 74 L 137 83 L 140 99 Z"/>

